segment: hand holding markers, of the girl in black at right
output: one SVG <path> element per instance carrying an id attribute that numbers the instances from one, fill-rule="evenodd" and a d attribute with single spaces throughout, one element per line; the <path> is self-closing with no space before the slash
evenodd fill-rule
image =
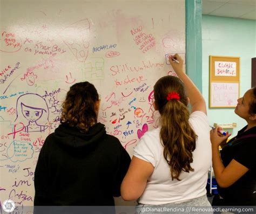
<path id="1" fill-rule="evenodd" d="M 223 147 L 231 134 L 228 134 L 228 132 L 224 132 L 223 129 L 219 126 L 217 126 L 216 128 L 212 126 L 210 127 L 212 128 L 210 132 L 212 147 Z"/>

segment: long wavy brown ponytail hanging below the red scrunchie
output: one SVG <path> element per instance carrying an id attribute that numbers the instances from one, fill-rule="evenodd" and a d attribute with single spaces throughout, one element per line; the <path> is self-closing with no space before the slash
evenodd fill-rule
<path id="1" fill-rule="evenodd" d="M 180 181 L 181 171 L 194 171 L 192 151 L 196 149 L 196 133 L 188 119 L 190 112 L 178 100 L 166 103 L 161 114 L 160 137 L 164 146 L 164 158 L 170 165 L 172 180 Z"/>

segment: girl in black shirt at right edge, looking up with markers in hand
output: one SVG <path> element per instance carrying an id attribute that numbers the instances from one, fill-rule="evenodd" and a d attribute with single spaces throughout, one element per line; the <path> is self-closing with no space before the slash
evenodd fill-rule
<path id="1" fill-rule="evenodd" d="M 230 134 L 222 136 L 220 127 L 211 130 L 212 161 L 219 196 L 212 205 L 256 205 L 256 87 L 238 99 L 235 114 L 247 126 L 226 144 Z M 221 157 L 218 147 L 222 146 Z"/>

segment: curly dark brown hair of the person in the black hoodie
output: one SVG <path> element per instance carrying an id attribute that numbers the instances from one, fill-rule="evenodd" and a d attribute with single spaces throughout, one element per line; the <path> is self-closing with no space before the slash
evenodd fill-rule
<path id="1" fill-rule="evenodd" d="M 78 82 L 72 85 L 62 105 L 60 122 L 77 127 L 81 132 L 86 133 L 97 123 L 95 111 L 97 100 L 99 100 L 98 92 L 90 82 Z"/>

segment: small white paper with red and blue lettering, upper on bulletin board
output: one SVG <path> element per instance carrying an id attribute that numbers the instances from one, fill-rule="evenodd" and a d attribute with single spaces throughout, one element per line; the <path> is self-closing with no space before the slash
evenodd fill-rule
<path id="1" fill-rule="evenodd" d="M 237 63 L 234 61 L 215 61 L 215 76 L 230 76 L 237 75 Z"/>

